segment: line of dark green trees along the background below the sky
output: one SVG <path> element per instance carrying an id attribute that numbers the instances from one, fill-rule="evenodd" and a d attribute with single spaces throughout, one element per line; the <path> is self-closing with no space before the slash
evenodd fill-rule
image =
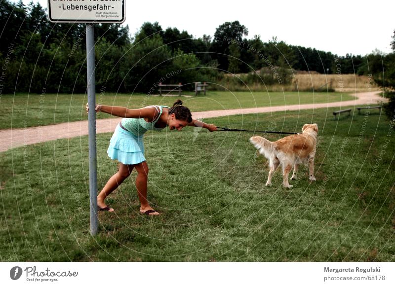
<path id="1" fill-rule="evenodd" d="M 39 3 L 9 0 L 0 2 L 0 24 L 4 27 L 0 36 L 3 94 L 41 93 L 43 89 L 85 92 L 84 24 L 51 23 Z M 391 84 L 382 76 L 383 63 L 391 70 L 394 53 L 337 56 L 289 45 L 276 37 L 264 42 L 260 36 L 246 36 L 248 29 L 238 21 L 224 23 L 213 36 L 200 38 L 177 28 L 163 30 L 158 22 L 144 23 L 133 36 L 127 26 L 96 24 L 96 88 L 148 93 L 160 82 L 181 82 L 191 83 L 184 89 L 192 89 L 195 81 L 218 82 L 238 73 L 251 73 L 248 78 L 265 85 L 287 84 L 292 70 L 373 73 L 379 84 Z"/>

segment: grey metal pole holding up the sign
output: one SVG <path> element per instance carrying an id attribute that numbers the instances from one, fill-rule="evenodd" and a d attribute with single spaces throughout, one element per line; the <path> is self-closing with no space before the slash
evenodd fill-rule
<path id="1" fill-rule="evenodd" d="M 93 24 L 86 24 L 86 72 L 88 84 L 89 201 L 90 234 L 97 233 L 96 93 L 95 35 Z"/>

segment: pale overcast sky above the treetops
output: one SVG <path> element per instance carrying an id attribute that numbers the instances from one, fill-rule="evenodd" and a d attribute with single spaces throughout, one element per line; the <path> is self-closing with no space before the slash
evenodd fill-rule
<path id="1" fill-rule="evenodd" d="M 33 1 L 47 8 L 47 0 Z M 375 49 L 391 52 L 394 11 L 394 0 L 129 0 L 123 25 L 134 35 L 144 22 L 157 21 L 162 29 L 176 27 L 201 37 L 237 20 L 248 28 L 248 38 L 260 35 L 268 41 L 277 36 L 288 44 L 340 56 L 365 55 Z"/>

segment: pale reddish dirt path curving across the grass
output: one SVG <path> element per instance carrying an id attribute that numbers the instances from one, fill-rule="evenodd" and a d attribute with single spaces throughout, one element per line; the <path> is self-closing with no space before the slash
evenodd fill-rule
<path id="1" fill-rule="evenodd" d="M 383 98 L 378 96 L 378 92 L 363 92 L 356 94 L 355 100 L 320 103 L 320 104 L 304 104 L 291 106 L 276 106 L 276 107 L 254 107 L 244 109 L 229 109 L 229 110 L 212 110 L 192 112 L 193 118 L 204 119 L 220 116 L 230 116 L 237 114 L 249 113 L 271 113 L 284 110 L 300 110 L 300 109 L 316 109 L 339 107 L 341 109 L 346 106 L 366 106 L 375 105 L 378 101 L 383 101 Z M 99 119 L 96 121 L 96 132 L 106 133 L 113 132 L 120 118 Z M 0 152 L 6 151 L 10 148 L 35 144 L 46 141 L 53 141 L 61 138 L 73 138 L 78 136 L 88 135 L 88 121 L 66 122 L 55 125 L 47 125 L 40 127 L 30 127 L 26 129 L 6 129 L 0 130 Z"/>

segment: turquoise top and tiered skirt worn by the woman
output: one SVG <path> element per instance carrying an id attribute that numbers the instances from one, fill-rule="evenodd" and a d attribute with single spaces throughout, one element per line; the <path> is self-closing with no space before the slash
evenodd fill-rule
<path id="1" fill-rule="evenodd" d="M 107 154 L 111 159 L 117 159 L 125 165 L 135 165 L 146 160 L 144 157 L 144 134 L 148 130 L 160 131 L 165 128 L 157 128 L 155 123 L 162 115 L 162 108 L 166 106 L 155 107 L 158 109 L 159 115 L 153 122 L 147 122 L 144 118 L 122 118 L 107 149 Z"/>

